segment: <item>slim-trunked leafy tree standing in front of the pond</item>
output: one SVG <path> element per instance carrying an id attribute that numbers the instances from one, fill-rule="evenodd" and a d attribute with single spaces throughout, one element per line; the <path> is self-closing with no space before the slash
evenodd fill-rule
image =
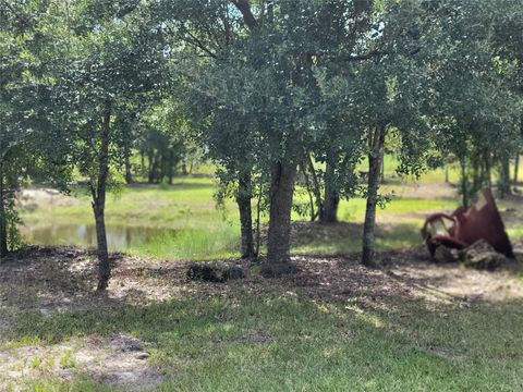
<path id="1" fill-rule="evenodd" d="M 117 125 L 126 115 L 129 102 L 160 87 L 165 61 L 160 27 L 146 4 L 138 2 L 74 1 L 57 7 L 56 12 L 64 21 L 59 27 L 65 34 L 56 53 L 62 65 L 56 70 L 54 96 L 63 107 L 59 115 L 72 140 L 72 159 L 88 179 L 97 233 L 98 290 L 105 290 L 111 270 L 106 195 L 122 166 L 119 132 L 125 131 Z"/>

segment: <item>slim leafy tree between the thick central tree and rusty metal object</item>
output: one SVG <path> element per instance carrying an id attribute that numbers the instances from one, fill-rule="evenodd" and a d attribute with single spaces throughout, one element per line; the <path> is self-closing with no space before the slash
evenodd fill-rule
<path id="1" fill-rule="evenodd" d="M 360 192 L 366 198 L 362 262 L 375 265 L 376 209 L 387 135 L 396 134 L 400 144 L 399 170 L 419 172 L 430 145 L 430 132 L 424 118 L 430 94 L 427 66 L 431 47 L 424 45 L 433 32 L 431 10 L 424 3 L 382 2 L 373 9 L 367 34 L 360 40 L 365 52 L 357 57 L 340 50 L 338 63 L 357 58 L 343 72 L 327 75 L 324 94 L 336 107 L 348 108 L 345 123 L 352 125 L 353 158 L 368 161 L 367 184 Z"/>

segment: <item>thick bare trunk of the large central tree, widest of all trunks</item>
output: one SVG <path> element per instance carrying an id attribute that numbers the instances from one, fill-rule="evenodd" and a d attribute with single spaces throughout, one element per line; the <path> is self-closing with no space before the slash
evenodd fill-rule
<path id="1" fill-rule="evenodd" d="M 291 209 L 296 166 L 272 162 L 270 173 L 270 211 L 266 277 L 278 277 L 291 271 Z"/>

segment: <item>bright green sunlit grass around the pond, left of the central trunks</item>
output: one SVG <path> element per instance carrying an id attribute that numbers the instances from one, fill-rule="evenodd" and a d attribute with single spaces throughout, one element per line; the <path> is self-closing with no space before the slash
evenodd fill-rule
<path id="1" fill-rule="evenodd" d="M 166 229 L 165 234 L 154 236 L 148 243 L 126 249 L 130 253 L 172 259 L 231 256 L 238 249 L 238 211 L 232 201 L 218 209 L 215 189 L 214 180 L 208 177 L 177 180 L 168 187 L 124 187 L 108 198 L 106 223 Z M 90 200 L 85 189 L 76 189 L 74 196 L 70 205 L 46 205 L 24 211 L 25 225 L 92 224 Z"/>

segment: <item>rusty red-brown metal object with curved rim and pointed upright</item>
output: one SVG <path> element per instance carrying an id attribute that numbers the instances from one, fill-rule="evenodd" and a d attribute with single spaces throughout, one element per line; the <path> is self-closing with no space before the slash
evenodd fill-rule
<path id="1" fill-rule="evenodd" d="M 513 258 L 512 244 L 504 230 L 490 188 L 471 208 L 457 209 L 452 215 L 435 213 L 427 218 L 422 235 L 431 256 L 438 246 L 463 249 L 478 240 L 485 240 L 496 252 Z"/>

